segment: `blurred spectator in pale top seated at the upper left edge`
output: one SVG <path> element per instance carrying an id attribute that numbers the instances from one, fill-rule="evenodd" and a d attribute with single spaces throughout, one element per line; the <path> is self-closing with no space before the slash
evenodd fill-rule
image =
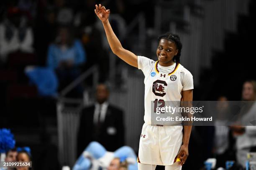
<path id="1" fill-rule="evenodd" d="M 6 62 L 11 52 L 33 52 L 32 29 L 18 7 L 10 7 L 0 24 L 0 62 Z"/>

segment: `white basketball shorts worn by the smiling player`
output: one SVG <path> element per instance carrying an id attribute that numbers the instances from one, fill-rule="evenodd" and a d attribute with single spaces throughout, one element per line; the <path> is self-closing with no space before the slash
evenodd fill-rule
<path id="1" fill-rule="evenodd" d="M 172 165 L 182 145 L 182 126 L 151 126 L 144 123 L 138 153 L 138 163 Z"/>

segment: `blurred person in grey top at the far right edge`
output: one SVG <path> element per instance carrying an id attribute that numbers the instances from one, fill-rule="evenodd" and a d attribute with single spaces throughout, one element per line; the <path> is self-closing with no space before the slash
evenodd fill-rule
<path id="1" fill-rule="evenodd" d="M 242 100 L 255 101 L 255 99 L 256 81 L 250 80 L 244 82 Z M 246 106 L 249 107 L 242 108 L 244 114 L 241 117 L 240 125 L 230 126 L 233 135 L 236 137 L 236 158 L 238 163 L 243 167 L 246 165 L 247 153 L 256 147 L 256 103 L 246 102 Z"/>

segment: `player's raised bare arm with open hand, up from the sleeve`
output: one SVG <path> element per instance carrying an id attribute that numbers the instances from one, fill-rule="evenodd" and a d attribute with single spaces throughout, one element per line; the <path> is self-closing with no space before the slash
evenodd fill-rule
<path id="1" fill-rule="evenodd" d="M 118 37 L 116 37 L 115 33 L 113 32 L 111 25 L 109 23 L 109 14 L 110 10 L 106 10 L 104 6 L 101 5 L 95 5 L 96 9 L 94 10 L 97 17 L 102 21 L 103 27 L 105 29 L 108 43 L 110 45 L 111 50 L 115 55 L 117 55 L 119 58 L 124 60 L 129 65 L 132 65 L 133 67 L 138 68 L 138 57 L 137 55 L 133 54 L 131 51 L 125 50 L 120 41 L 118 40 Z"/>

